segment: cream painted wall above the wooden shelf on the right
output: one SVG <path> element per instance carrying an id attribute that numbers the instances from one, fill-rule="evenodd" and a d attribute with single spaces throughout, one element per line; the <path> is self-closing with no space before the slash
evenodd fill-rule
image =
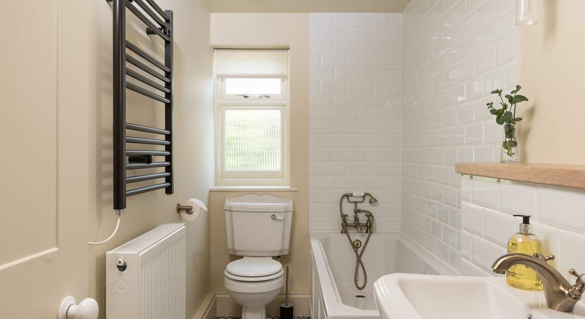
<path id="1" fill-rule="evenodd" d="M 538 23 L 519 27 L 521 160 L 585 164 L 585 1 L 538 0 Z"/>

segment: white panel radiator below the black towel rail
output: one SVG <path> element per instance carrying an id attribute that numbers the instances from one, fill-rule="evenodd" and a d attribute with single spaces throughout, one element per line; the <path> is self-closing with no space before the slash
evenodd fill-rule
<path id="1" fill-rule="evenodd" d="M 185 319 L 185 224 L 106 253 L 106 319 Z"/>

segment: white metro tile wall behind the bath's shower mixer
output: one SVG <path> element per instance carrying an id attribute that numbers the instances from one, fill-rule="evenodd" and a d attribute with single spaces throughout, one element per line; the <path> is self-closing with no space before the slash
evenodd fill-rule
<path id="1" fill-rule="evenodd" d="M 374 230 L 400 230 L 401 14 L 310 15 L 311 231 L 339 231 L 339 197 L 371 192 Z M 353 206 L 344 212 L 353 216 Z"/>

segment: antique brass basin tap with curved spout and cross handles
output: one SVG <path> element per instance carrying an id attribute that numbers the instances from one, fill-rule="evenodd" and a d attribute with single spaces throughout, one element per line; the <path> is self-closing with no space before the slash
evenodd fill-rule
<path id="1" fill-rule="evenodd" d="M 546 260 L 554 259 L 553 255 L 548 258 L 535 254 L 507 254 L 495 259 L 491 268 L 495 273 L 505 274 L 513 265 L 525 265 L 538 273 L 545 290 L 546 306 L 556 311 L 570 313 L 573 311 L 577 301 L 585 290 L 585 274 L 579 275 L 574 269 L 569 273 L 577 278 L 575 285 L 571 285 L 560 272 L 553 266 L 546 263 Z"/>

